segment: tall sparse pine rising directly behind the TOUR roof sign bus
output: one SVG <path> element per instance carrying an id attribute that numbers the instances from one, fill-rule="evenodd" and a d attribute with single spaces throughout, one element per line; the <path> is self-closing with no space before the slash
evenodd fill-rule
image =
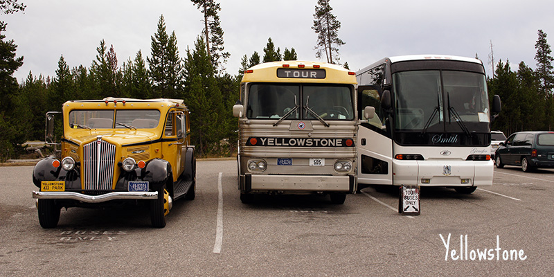
<path id="1" fill-rule="evenodd" d="M 339 29 L 341 22 L 337 16 L 331 13 L 333 9 L 329 5 L 329 0 L 317 0 L 314 13 L 314 30 L 317 34 L 316 57 L 319 59 L 325 53 L 327 62 L 334 64 L 339 61 L 339 46 L 344 42 L 339 39 Z"/>

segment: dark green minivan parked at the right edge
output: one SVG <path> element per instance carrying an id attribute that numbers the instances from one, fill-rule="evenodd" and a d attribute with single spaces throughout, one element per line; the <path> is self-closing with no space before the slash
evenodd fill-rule
<path id="1" fill-rule="evenodd" d="M 525 172 L 534 168 L 554 168 L 554 132 L 517 132 L 500 143 L 495 154 L 497 168 L 521 166 Z"/>

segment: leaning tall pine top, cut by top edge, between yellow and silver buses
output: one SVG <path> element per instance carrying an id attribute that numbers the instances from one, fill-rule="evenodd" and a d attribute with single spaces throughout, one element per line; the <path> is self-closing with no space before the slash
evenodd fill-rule
<path id="1" fill-rule="evenodd" d="M 220 3 L 215 0 L 191 0 L 197 8 L 204 14 L 204 42 L 206 44 L 206 53 L 210 57 L 214 70 L 224 71 L 222 64 L 227 62 L 231 54 L 224 52 L 223 29 L 220 24 L 220 16 L 217 12 L 221 10 Z M 220 59 L 223 59 L 221 62 Z"/>

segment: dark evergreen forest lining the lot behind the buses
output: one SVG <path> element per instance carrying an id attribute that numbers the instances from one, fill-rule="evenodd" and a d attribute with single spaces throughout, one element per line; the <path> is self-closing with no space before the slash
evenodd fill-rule
<path id="1" fill-rule="evenodd" d="M 244 55 L 241 66 L 226 70 L 224 65 L 231 54 L 224 51 L 224 32 L 217 15 L 219 4 L 214 0 L 191 1 L 203 13 L 206 27 L 193 47 L 184 52 L 179 52 L 177 35 L 168 32 L 161 15 L 157 32 L 150 37 L 149 56 L 138 51 L 134 58 L 120 62 L 114 46 L 101 40 L 96 46 L 96 59 L 90 66 L 70 67 L 61 55 L 55 76 L 29 72 L 21 83 L 13 73 L 23 64 L 24 57 L 17 56 L 17 44 L 6 37 L 8 26 L 0 21 L 0 161 L 15 159 L 24 153 L 26 141 L 44 140 L 46 111 L 61 111 L 62 103 L 67 100 L 108 96 L 184 99 L 191 112 L 193 144 L 199 156 L 231 157 L 235 154 L 238 122 L 232 115 L 232 107 L 239 98 L 244 70 L 260 62 L 296 60 L 297 54 L 291 46 L 281 54 L 281 48 L 269 37 L 267 44 L 260 46 L 261 54 L 255 51 L 249 57 L 233 53 Z M 7 5 L 2 6 L 3 13 L 25 8 L 17 0 L 1 2 Z M 328 5 L 328 0 L 319 2 Z M 326 10 L 332 9 L 327 7 Z M 321 13 L 321 9 L 316 11 Z M 314 17 L 317 19 L 321 15 L 316 13 Z M 316 33 L 325 31 L 320 25 L 314 21 Z M 339 22 L 336 25 L 340 27 Z M 335 37 L 337 30 L 333 30 Z M 517 131 L 554 128 L 554 59 L 546 36 L 538 30 L 535 70 L 523 61 L 519 68 L 512 69 L 508 60 L 501 60 L 493 75 L 488 76 L 490 99 L 498 94 L 502 100 L 502 111 L 492 123 L 492 129 L 508 136 Z M 318 48 L 319 56 L 339 60 L 337 47 L 344 42 L 336 37 L 334 43 L 336 45 L 328 52 Z M 318 42 L 317 45 L 329 44 Z"/>

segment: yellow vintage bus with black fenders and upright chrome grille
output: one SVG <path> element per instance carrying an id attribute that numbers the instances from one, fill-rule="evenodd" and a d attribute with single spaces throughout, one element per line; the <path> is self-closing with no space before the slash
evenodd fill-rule
<path id="1" fill-rule="evenodd" d="M 60 117 L 61 154 L 33 169 L 42 227 L 57 226 L 63 207 L 124 202 L 149 204 L 152 226 L 163 227 L 173 200 L 195 198 L 195 148 L 183 100 L 76 100 L 56 114 L 46 114 L 46 143 L 57 144 L 53 123 Z"/>

